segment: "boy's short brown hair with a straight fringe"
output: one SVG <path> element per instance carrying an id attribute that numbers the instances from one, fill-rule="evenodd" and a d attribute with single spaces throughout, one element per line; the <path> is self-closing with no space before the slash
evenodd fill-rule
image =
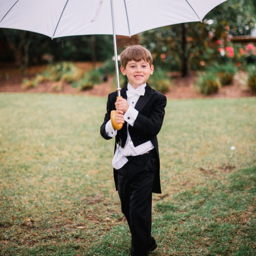
<path id="1" fill-rule="evenodd" d="M 128 61 L 135 60 L 135 61 L 147 61 L 147 63 L 152 65 L 152 55 L 148 49 L 135 45 L 135 46 L 128 46 L 121 52 L 121 65 L 125 68 Z"/>

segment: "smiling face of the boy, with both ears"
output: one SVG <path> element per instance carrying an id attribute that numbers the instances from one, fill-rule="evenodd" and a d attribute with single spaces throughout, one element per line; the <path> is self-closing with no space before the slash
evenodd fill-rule
<path id="1" fill-rule="evenodd" d="M 144 84 L 148 80 L 148 77 L 153 74 L 154 66 L 150 66 L 144 60 L 130 60 L 125 68 L 121 66 L 121 72 L 124 76 L 126 75 L 128 77 L 131 86 L 136 89 Z"/>

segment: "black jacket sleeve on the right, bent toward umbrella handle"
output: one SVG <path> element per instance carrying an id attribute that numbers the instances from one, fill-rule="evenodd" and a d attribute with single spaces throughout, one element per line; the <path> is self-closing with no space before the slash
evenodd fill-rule
<path id="1" fill-rule="evenodd" d="M 138 113 L 133 125 L 134 131 L 142 136 L 156 136 L 163 124 L 165 114 L 164 108 L 166 107 L 166 104 L 166 96 L 162 93 L 158 93 L 158 96 L 152 101 L 150 113 L 148 115 L 143 115 L 143 112 Z"/>

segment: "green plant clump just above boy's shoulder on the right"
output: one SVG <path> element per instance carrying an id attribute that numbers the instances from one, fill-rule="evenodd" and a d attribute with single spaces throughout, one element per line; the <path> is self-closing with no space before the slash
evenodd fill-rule
<path id="1" fill-rule="evenodd" d="M 148 84 L 160 93 L 168 92 L 168 88 L 171 85 L 171 79 L 167 76 L 166 71 L 161 68 L 156 68 L 150 79 L 148 80 Z"/>

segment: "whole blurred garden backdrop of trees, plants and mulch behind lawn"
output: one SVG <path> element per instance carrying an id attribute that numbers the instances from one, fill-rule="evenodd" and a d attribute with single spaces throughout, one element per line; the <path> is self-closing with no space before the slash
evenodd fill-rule
<path id="1" fill-rule="evenodd" d="M 183 92 L 176 88 L 183 84 L 188 90 L 197 88 L 187 97 L 198 96 L 198 92 L 220 93 L 225 85 L 233 84 L 234 77 L 239 96 L 255 93 L 255 5 L 254 0 L 229 0 L 210 11 L 201 23 L 156 28 L 131 38 L 117 36 L 118 52 L 130 44 L 148 48 L 155 65 L 151 84 L 174 97 Z M 108 93 L 115 88 L 113 54 L 112 35 L 51 40 L 34 32 L 1 28 L 0 91 L 44 90 L 38 85 L 51 81 L 45 90 L 81 92 L 110 81 L 113 86 Z M 126 82 L 121 77 L 121 84 Z"/>

